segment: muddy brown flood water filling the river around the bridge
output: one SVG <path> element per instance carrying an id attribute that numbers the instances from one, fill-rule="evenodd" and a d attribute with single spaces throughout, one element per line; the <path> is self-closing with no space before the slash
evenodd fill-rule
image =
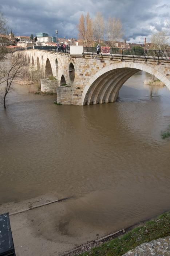
<path id="1" fill-rule="evenodd" d="M 119 101 L 58 106 L 55 96 L 15 85 L 0 108 L 0 203 L 50 192 L 66 202 L 68 225 L 105 233 L 170 209 L 170 91 L 138 72 Z"/>

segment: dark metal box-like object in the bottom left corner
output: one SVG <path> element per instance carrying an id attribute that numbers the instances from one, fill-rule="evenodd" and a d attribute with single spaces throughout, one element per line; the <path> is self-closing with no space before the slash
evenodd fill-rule
<path id="1" fill-rule="evenodd" d="M 0 215 L 0 256 L 15 256 L 8 213 Z"/>

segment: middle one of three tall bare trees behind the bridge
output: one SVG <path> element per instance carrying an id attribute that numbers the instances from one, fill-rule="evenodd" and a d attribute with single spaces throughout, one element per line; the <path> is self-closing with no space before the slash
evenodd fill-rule
<path id="1" fill-rule="evenodd" d="M 104 18 L 101 12 L 97 12 L 94 18 L 94 38 L 96 41 L 99 42 L 99 44 L 104 40 L 104 31 L 105 31 Z"/>

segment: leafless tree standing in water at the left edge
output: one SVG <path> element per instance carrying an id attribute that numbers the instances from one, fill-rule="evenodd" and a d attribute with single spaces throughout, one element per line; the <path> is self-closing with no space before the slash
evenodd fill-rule
<path id="1" fill-rule="evenodd" d="M 0 63 L 0 94 L 3 99 L 4 109 L 6 109 L 5 99 L 12 89 L 12 83 L 18 79 L 24 79 L 28 76 L 28 63 L 21 55 L 13 56 L 9 64 Z"/>

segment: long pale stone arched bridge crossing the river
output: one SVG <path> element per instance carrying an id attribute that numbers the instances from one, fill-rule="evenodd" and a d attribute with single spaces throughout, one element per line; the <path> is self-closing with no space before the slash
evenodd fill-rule
<path id="1" fill-rule="evenodd" d="M 132 75 L 146 71 L 170 89 L 170 60 L 141 57 L 70 54 L 46 50 L 20 52 L 46 78 L 58 80 L 57 102 L 90 105 L 114 102 L 119 90 Z"/>

